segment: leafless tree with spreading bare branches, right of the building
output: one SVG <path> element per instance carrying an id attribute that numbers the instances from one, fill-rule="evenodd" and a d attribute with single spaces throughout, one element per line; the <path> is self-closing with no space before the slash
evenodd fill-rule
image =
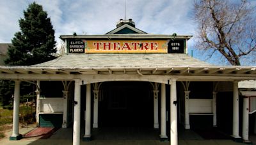
<path id="1" fill-rule="evenodd" d="M 220 52 L 233 66 L 240 66 L 244 58 L 255 60 L 254 11 L 246 0 L 195 0 L 196 48 L 212 50 L 211 56 Z"/>

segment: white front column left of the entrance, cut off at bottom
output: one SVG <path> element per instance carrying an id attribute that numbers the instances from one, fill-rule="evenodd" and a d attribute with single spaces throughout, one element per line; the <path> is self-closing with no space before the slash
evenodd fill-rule
<path id="1" fill-rule="evenodd" d="M 73 145 L 80 144 L 81 80 L 75 79 Z"/>

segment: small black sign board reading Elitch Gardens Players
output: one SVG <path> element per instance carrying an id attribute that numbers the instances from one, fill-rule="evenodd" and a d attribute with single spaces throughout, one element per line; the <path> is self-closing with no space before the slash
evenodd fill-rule
<path id="1" fill-rule="evenodd" d="M 68 53 L 84 53 L 84 42 L 81 39 L 69 40 Z"/>

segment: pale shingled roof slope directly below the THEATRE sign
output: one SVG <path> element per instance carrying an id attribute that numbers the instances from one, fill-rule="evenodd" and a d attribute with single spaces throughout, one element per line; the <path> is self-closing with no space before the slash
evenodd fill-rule
<path id="1" fill-rule="evenodd" d="M 152 54 L 68 54 L 58 59 L 36 64 L 35 67 L 170 67 L 170 66 L 212 66 L 206 62 L 179 53 Z"/>

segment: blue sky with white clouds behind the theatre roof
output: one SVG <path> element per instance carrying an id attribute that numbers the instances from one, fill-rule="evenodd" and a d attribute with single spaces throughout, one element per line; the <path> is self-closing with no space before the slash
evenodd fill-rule
<path id="1" fill-rule="evenodd" d="M 116 22 L 125 18 L 125 0 L 36 0 L 51 17 L 55 37 L 60 46 L 62 34 L 105 34 L 115 29 Z M 15 32 L 20 31 L 19 19 L 33 3 L 30 0 L 0 0 L 0 43 L 11 43 Z M 192 20 L 192 0 L 127 0 L 127 19 L 136 27 L 152 34 L 193 35 L 196 22 Z M 252 0 L 256 5 L 256 1 Z M 189 40 L 189 53 L 195 38 Z M 203 52 L 193 51 L 201 57 Z M 207 60 L 209 61 L 209 60 Z"/>

